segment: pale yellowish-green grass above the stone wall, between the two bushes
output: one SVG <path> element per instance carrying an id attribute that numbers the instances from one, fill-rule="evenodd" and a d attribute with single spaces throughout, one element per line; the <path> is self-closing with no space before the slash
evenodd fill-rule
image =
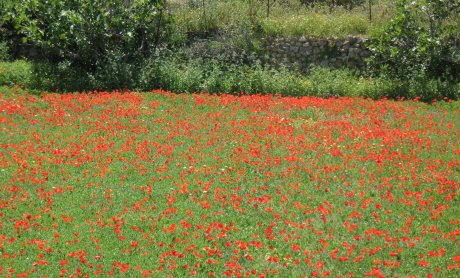
<path id="1" fill-rule="evenodd" d="M 270 15 L 266 15 L 265 3 L 260 1 L 207 1 L 205 9 L 201 2 L 194 5 L 171 4 L 179 29 L 188 32 L 203 32 L 216 29 L 237 28 L 242 22 L 259 26 L 265 36 L 368 36 L 382 27 L 393 15 L 394 6 L 388 1 L 379 1 L 372 7 L 369 20 L 367 6 L 346 10 L 341 7 L 310 8 L 300 2 L 272 2 Z M 205 11 L 204 11 L 205 10 Z"/>

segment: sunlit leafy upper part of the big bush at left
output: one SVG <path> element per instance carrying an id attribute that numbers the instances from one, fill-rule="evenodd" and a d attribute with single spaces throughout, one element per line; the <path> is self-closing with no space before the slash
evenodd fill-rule
<path id="1" fill-rule="evenodd" d="M 18 31 L 48 55 L 95 66 L 116 49 L 125 59 L 149 51 L 161 1 L 22 0 L 11 13 Z"/>

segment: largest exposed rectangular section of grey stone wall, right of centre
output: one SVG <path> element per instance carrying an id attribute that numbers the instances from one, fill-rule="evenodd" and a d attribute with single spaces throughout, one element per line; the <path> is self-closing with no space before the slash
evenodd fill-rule
<path id="1" fill-rule="evenodd" d="M 285 65 L 308 71 L 311 66 L 362 69 L 371 52 L 367 39 L 349 36 L 345 39 L 295 37 L 264 39 L 272 65 Z"/>

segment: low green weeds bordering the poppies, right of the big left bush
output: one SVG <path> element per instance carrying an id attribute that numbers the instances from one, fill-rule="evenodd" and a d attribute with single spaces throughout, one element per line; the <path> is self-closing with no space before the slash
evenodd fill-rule
<path id="1" fill-rule="evenodd" d="M 219 61 L 177 57 L 152 59 L 142 70 L 138 88 L 163 88 L 173 92 L 281 94 L 291 96 L 358 96 L 380 99 L 460 97 L 460 83 L 419 77 L 402 81 L 389 77 L 361 77 L 347 69 L 313 68 L 300 75 L 286 68 L 278 70 L 254 66 L 222 64 Z"/>

